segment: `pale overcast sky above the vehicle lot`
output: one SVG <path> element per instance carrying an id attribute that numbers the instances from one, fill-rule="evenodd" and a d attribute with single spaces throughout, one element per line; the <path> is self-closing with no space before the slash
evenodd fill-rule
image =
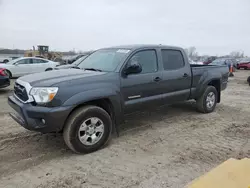
<path id="1" fill-rule="evenodd" d="M 195 46 L 250 56 L 250 0 L 0 0 L 0 47 Z"/>

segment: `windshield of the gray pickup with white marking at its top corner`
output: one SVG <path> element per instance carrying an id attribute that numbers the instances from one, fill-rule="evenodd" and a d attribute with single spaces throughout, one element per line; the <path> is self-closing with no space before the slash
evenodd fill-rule
<path id="1" fill-rule="evenodd" d="M 78 67 L 80 69 L 96 69 L 104 72 L 112 72 L 129 51 L 127 49 L 97 50 L 82 61 Z"/>

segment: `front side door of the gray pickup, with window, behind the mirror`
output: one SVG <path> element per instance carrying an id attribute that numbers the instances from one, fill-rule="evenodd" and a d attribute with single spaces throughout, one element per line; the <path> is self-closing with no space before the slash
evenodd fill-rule
<path id="1" fill-rule="evenodd" d="M 131 61 L 137 61 L 142 67 L 142 72 L 121 75 L 121 95 L 125 113 L 162 104 L 161 72 L 158 70 L 156 50 L 147 49 L 135 52 L 129 58 L 124 69 L 129 66 Z"/>

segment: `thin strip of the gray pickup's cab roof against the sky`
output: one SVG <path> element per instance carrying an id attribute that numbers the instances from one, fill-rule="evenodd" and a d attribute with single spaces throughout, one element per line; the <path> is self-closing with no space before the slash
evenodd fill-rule
<path id="1" fill-rule="evenodd" d="M 182 49 L 177 46 L 167 46 L 167 45 L 161 45 L 161 44 L 130 44 L 130 45 L 120 45 L 120 46 L 113 46 L 108 47 L 106 49 L 112 49 L 112 48 L 122 48 L 122 49 L 130 49 L 130 50 L 136 50 L 140 48 L 173 48 L 173 49 Z"/>

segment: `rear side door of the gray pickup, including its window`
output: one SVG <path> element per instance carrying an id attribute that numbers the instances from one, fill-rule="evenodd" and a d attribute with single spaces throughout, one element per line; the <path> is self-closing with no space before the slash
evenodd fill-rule
<path id="1" fill-rule="evenodd" d="M 166 104 L 184 101 L 189 98 L 192 74 L 190 64 L 185 63 L 180 50 L 162 49 L 163 100 Z"/>

